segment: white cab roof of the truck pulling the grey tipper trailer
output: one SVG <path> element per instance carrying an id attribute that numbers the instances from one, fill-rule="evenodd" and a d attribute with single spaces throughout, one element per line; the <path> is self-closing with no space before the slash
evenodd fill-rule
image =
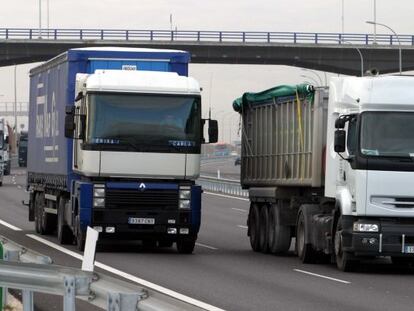
<path id="1" fill-rule="evenodd" d="M 414 76 L 334 77 L 329 91 L 337 111 L 414 110 Z"/>

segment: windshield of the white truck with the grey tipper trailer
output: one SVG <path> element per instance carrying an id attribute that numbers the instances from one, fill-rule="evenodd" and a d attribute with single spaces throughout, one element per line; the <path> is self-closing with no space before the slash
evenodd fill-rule
<path id="1" fill-rule="evenodd" d="M 414 157 L 413 112 L 365 112 L 361 122 L 362 154 Z"/>

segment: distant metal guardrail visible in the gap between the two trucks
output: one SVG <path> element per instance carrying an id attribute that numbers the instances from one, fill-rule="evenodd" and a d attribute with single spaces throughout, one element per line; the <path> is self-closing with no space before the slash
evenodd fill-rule
<path id="1" fill-rule="evenodd" d="M 233 179 L 218 179 L 210 176 L 200 176 L 197 183 L 204 190 L 219 192 L 238 197 L 249 197 L 249 192 L 241 188 L 240 182 Z"/>

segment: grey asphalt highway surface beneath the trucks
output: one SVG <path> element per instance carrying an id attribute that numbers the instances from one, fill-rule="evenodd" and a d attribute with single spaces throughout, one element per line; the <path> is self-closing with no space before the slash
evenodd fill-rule
<path id="1" fill-rule="evenodd" d="M 52 247 L 28 236 L 38 237 L 21 204 L 27 196 L 24 171 L 15 172 L 0 188 L 0 220 L 22 230 L 0 224 L 0 234 L 51 256 L 57 264 L 80 267 L 71 253 L 53 248 L 54 236 L 41 237 Z M 118 269 L 225 310 L 413 310 L 414 274 L 386 259 L 343 273 L 330 264 L 303 265 L 293 252 L 252 252 L 246 236 L 247 210 L 244 199 L 205 193 L 193 255 L 179 255 L 174 248 L 144 251 L 138 243 L 105 245 L 96 260 L 106 271 L 98 270 Z M 65 248 L 77 253 L 74 246 Z M 58 303 L 50 302 L 44 310 L 60 310 Z M 80 310 L 93 309 L 80 305 Z"/>

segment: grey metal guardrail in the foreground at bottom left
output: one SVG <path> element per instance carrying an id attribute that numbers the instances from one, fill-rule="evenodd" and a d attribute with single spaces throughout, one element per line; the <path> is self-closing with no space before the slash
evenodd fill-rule
<path id="1" fill-rule="evenodd" d="M 23 311 L 33 311 L 33 292 L 63 296 L 63 310 L 76 310 L 76 298 L 110 311 L 201 311 L 152 289 L 102 273 L 52 265 L 50 257 L 0 236 L 4 260 L 0 260 L 0 286 L 21 289 Z M 3 291 L 3 303 L 6 302 Z M 2 306 L 1 306 L 2 307 Z"/>

